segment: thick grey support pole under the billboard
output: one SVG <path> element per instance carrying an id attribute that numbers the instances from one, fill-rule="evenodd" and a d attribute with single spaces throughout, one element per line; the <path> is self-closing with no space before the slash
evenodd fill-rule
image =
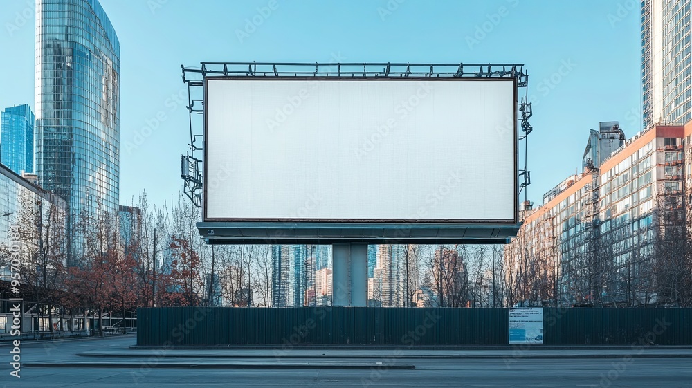
<path id="1" fill-rule="evenodd" d="M 367 306 L 367 244 L 331 246 L 332 306 Z"/>

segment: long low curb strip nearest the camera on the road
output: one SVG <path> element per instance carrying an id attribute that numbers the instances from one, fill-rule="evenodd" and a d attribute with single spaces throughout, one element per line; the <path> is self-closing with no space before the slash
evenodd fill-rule
<path id="1" fill-rule="evenodd" d="M 22 364 L 27 368 L 189 368 L 189 369 L 373 369 L 385 367 L 386 369 L 416 369 L 415 365 L 384 365 L 384 364 L 141 364 L 141 363 L 113 363 L 113 362 L 28 362 Z"/>

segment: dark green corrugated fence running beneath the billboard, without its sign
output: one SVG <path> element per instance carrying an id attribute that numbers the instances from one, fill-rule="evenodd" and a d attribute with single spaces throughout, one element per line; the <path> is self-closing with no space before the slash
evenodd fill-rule
<path id="1" fill-rule="evenodd" d="M 137 344 L 504 345 L 507 308 L 140 308 Z M 692 345 L 690 308 L 544 308 L 544 344 Z"/>

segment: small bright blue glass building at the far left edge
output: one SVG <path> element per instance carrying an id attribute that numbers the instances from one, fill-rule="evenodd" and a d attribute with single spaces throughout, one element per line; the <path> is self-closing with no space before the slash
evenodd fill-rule
<path id="1" fill-rule="evenodd" d="M 20 175 L 34 172 L 34 121 L 28 104 L 0 113 L 0 162 Z"/>

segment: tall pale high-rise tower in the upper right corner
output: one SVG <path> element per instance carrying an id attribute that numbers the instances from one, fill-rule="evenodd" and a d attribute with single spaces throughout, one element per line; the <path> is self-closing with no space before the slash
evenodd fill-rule
<path id="1" fill-rule="evenodd" d="M 689 0 L 641 1 L 644 129 L 692 119 Z"/>

